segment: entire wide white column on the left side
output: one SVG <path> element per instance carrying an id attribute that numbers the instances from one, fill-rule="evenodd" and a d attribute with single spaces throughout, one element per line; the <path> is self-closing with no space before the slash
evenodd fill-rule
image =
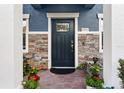
<path id="1" fill-rule="evenodd" d="M 0 5 L 0 88 L 18 88 L 22 81 L 21 5 Z"/>

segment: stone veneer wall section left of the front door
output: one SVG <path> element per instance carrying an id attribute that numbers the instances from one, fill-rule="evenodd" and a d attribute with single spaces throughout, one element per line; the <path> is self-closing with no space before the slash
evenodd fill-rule
<path id="1" fill-rule="evenodd" d="M 29 50 L 24 57 L 31 59 L 35 66 L 41 63 L 48 63 L 48 35 L 29 34 Z"/>

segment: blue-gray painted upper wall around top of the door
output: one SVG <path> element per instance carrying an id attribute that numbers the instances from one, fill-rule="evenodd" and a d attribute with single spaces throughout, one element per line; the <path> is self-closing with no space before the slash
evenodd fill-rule
<path id="1" fill-rule="evenodd" d="M 23 13 L 30 14 L 30 31 L 48 31 L 47 12 L 79 12 L 79 30 L 81 27 L 89 28 L 90 31 L 98 31 L 97 13 L 103 13 L 103 5 L 96 4 L 92 9 L 85 9 L 82 5 L 42 5 L 35 9 L 30 4 L 23 5 Z"/>

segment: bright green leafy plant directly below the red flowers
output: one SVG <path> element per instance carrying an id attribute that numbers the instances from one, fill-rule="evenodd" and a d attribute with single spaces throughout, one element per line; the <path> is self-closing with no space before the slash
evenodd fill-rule
<path id="1" fill-rule="evenodd" d="M 38 87 L 38 82 L 35 80 L 25 80 L 22 82 L 24 89 L 36 89 Z"/>

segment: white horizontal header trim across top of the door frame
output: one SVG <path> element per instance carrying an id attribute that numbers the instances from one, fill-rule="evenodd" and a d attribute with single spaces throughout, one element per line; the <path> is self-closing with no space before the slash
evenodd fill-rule
<path id="1" fill-rule="evenodd" d="M 47 13 L 49 18 L 75 18 L 79 17 L 79 13 Z"/>

